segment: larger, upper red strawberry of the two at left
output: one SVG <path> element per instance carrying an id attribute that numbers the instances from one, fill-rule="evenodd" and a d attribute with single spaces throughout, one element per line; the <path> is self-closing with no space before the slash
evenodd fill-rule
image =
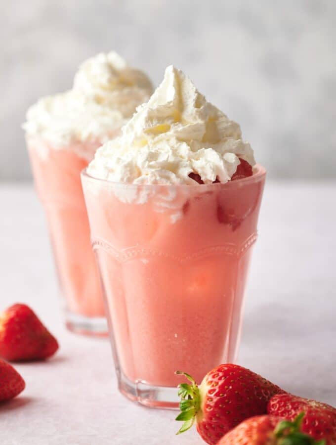
<path id="1" fill-rule="evenodd" d="M 41 360 L 58 349 L 57 340 L 26 305 L 0 314 L 0 357 L 8 361 Z"/>

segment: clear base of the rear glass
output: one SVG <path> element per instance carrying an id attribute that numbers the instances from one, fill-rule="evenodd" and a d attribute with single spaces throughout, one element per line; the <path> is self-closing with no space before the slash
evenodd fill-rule
<path id="1" fill-rule="evenodd" d="M 74 312 L 65 312 L 65 324 L 75 334 L 107 337 L 108 328 L 105 317 L 86 317 Z"/>

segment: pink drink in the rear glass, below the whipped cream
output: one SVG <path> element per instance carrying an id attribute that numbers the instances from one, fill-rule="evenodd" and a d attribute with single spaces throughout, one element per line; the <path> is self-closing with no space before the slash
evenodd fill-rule
<path id="1" fill-rule="evenodd" d="M 75 314 L 102 317 L 103 296 L 80 179 L 88 161 L 76 154 L 82 151 L 93 157 L 99 143 L 54 149 L 41 140 L 27 142 L 66 308 Z"/>

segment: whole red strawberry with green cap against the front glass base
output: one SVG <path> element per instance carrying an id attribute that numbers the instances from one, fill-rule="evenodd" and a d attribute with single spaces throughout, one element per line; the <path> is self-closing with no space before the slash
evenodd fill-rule
<path id="1" fill-rule="evenodd" d="M 210 445 L 248 417 L 265 414 L 270 398 L 284 392 L 249 369 L 230 363 L 212 369 L 199 387 L 190 375 L 176 373 L 191 381 L 191 385 L 179 385 L 181 413 L 176 420 L 184 424 L 178 433 L 196 421 L 198 433 Z"/>

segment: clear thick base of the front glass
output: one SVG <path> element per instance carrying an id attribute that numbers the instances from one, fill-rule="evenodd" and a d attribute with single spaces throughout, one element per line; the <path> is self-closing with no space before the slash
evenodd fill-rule
<path id="1" fill-rule="evenodd" d="M 150 408 L 179 409 L 178 388 L 150 385 L 138 380 L 131 382 L 124 375 L 118 376 L 119 391 L 129 400 Z"/>

